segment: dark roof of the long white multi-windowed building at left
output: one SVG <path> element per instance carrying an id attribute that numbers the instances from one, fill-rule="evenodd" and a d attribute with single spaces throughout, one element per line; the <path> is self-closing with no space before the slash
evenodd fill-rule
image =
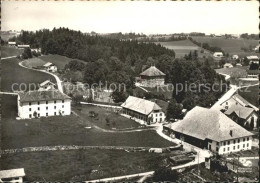
<path id="1" fill-rule="evenodd" d="M 71 99 L 59 90 L 19 92 L 20 102 L 37 102 Z"/>

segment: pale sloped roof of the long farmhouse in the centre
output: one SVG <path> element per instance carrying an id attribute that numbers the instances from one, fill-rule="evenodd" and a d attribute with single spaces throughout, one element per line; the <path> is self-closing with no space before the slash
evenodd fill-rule
<path id="1" fill-rule="evenodd" d="M 148 115 L 153 110 L 161 110 L 161 107 L 156 103 L 149 100 L 129 96 L 126 101 L 121 105 L 121 107 L 139 112 L 141 114 Z"/>

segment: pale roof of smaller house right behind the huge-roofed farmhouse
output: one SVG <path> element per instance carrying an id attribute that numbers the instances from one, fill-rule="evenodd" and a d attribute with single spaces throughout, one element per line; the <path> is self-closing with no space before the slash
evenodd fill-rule
<path id="1" fill-rule="evenodd" d="M 228 110 L 225 111 L 225 114 L 230 115 L 234 112 L 238 117 L 242 119 L 247 119 L 253 111 L 255 111 L 253 108 L 232 104 L 231 106 L 229 106 Z"/>

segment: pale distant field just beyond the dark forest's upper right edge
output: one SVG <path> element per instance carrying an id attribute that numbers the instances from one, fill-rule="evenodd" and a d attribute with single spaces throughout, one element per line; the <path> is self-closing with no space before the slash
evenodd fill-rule
<path id="1" fill-rule="evenodd" d="M 190 40 L 182 40 L 182 41 L 169 41 L 169 42 L 158 42 L 156 44 L 161 44 L 162 46 L 174 50 L 175 52 L 175 57 L 176 58 L 181 58 L 185 54 L 189 54 L 190 51 L 198 51 L 198 56 L 199 57 L 207 57 L 209 54 L 207 52 L 205 53 L 200 53 L 200 48 L 193 44 Z"/>

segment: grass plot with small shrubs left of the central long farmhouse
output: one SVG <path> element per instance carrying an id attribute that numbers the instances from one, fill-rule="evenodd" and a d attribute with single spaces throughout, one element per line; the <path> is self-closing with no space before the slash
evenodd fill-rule
<path id="1" fill-rule="evenodd" d="M 98 114 L 97 117 L 90 117 L 89 112 L 93 111 Z M 92 124 L 99 126 L 103 129 L 137 129 L 141 125 L 134 120 L 125 118 L 119 113 L 112 112 L 109 109 L 101 107 L 95 107 L 91 105 L 82 105 L 77 113 L 84 119 L 90 121 Z M 109 125 L 106 123 L 106 119 L 109 120 Z"/>

